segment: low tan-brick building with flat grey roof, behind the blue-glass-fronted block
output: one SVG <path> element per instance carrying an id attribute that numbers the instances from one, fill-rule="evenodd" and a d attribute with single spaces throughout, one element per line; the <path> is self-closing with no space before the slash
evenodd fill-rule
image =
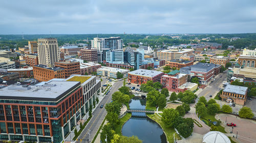
<path id="1" fill-rule="evenodd" d="M 186 60 L 172 60 L 172 61 L 167 61 L 167 64 L 165 64 L 165 66 L 169 66 L 170 68 L 183 68 L 183 67 L 187 67 L 187 66 L 191 66 L 193 65 L 193 61 L 186 61 Z"/>

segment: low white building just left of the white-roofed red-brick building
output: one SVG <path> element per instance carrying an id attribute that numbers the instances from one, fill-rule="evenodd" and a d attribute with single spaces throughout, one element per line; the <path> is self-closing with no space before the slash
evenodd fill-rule
<path id="1" fill-rule="evenodd" d="M 102 66 L 101 68 L 97 69 L 97 75 L 117 78 L 117 72 L 120 72 L 123 74 L 123 77 L 127 77 L 129 71 L 130 70 Z"/>

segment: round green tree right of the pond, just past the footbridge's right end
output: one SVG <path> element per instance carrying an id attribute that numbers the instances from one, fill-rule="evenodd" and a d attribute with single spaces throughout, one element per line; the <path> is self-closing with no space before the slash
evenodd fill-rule
<path id="1" fill-rule="evenodd" d="M 179 117 L 179 112 L 173 108 L 168 108 L 163 110 L 162 114 L 162 122 L 166 125 L 166 127 L 173 127 L 174 121 Z"/>

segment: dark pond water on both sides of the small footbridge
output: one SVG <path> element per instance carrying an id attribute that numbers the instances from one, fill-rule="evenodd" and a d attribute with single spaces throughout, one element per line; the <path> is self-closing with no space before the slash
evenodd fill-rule
<path id="1" fill-rule="evenodd" d="M 130 100 L 130 108 L 145 109 L 146 100 L 135 97 Z M 166 136 L 162 128 L 145 113 L 132 112 L 130 118 L 122 127 L 124 136 L 138 136 L 143 143 L 166 143 Z"/>

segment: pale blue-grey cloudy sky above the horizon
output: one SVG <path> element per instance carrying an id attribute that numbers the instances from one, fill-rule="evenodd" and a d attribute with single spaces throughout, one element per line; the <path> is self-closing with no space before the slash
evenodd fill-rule
<path id="1" fill-rule="evenodd" d="M 255 0 L 2 0 L 0 34 L 256 33 Z"/>

